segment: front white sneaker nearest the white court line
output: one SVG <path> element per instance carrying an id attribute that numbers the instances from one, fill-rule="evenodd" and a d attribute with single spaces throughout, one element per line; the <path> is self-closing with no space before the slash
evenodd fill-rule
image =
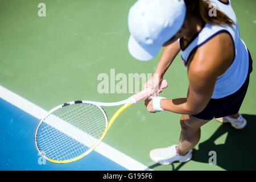
<path id="1" fill-rule="evenodd" d="M 192 152 L 189 151 L 188 154 L 182 156 L 177 153 L 177 144 L 174 144 L 166 148 L 156 148 L 150 151 L 150 158 L 159 164 L 168 165 L 175 161 L 187 162 L 192 158 Z"/>

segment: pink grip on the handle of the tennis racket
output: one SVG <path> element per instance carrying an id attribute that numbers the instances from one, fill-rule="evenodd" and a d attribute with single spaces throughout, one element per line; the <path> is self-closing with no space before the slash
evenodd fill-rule
<path id="1" fill-rule="evenodd" d="M 159 90 L 165 89 L 165 88 L 167 88 L 167 86 L 168 86 L 167 81 L 163 80 L 159 84 Z M 141 101 L 144 98 L 149 97 L 149 96 L 151 96 L 151 88 L 144 89 L 141 92 L 134 94 L 133 96 L 130 97 L 130 99 L 133 100 L 133 102 L 131 104 Z"/>

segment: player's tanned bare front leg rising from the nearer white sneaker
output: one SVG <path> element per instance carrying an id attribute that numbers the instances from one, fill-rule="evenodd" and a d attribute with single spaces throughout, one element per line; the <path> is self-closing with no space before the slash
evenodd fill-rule
<path id="1" fill-rule="evenodd" d="M 210 120 L 198 119 L 192 115 L 183 114 L 180 118 L 181 134 L 179 146 L 176 148 L 179 155 L 186 155 L 200 140 L 201 129 Z"/>

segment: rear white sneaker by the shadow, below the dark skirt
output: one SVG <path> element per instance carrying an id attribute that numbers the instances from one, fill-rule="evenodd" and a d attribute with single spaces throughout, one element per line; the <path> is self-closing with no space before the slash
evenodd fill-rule
<path id="1" fill-rule="evenodd" d="M 242 115 L 240 113 L 239 117 L 237 119 L 231 118 L 231 117 L 223 117 L 223 118 L 216 118 L 217 121 L 220 121 L 222 123 L 231 123 L 231 125 L 235 128 L 235 129 L 243 129 L 246 126 L 246 119 L 242 117 Z"/>

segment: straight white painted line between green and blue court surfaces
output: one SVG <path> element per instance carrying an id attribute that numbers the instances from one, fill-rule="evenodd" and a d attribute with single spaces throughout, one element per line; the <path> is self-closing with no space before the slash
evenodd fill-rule
<path id="1" fill-rule="evenodd" d="M 18 96 L 14 92 L 11 92 L 1 85 L 0 98 L 38 119 L 42 118 L 48 113 L 47 110 L 44 110 L 41 107 L 26 100 L 25 98 Z M 127 156 L 126 154 L 123 154 L 122 152 L 116 150 L 104 142 L 101 142 L 94 150 L 106 158 L 112 160 L 113 162 L 119 164 L 120 166 L 129 169 L 130 171 L 152 170 L 144 164 L 139 163 L 137 160 Z"/>

